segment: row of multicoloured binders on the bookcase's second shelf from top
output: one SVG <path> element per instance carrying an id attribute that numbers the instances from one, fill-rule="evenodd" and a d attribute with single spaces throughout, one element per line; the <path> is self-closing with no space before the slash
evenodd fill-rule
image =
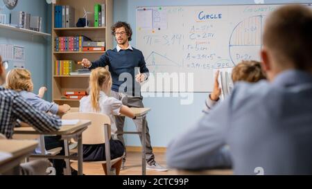
<path id="1" fill-rule="evenodd" d="M 89 37 L 55 37 L 55 52 L 83 51 L 83 42 L 92 41 Z"/>

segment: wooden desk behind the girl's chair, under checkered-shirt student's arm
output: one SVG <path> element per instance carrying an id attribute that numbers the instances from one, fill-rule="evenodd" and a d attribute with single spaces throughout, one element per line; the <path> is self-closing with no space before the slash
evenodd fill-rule
<path id="1" fill-rule="evenodd" d="M 32 154 L 31 157 L 36 158 L 48 158 L 48 159 L 74 159 L 78 160 L 78 174 L 83 174 L 83 131 L 87 129 L 88 125 L 91 125 L 90 120 L 79 120 L 76 125 L 62 125 L 60 129 L 56 132 L 37 132 L 33 127 L 17 127 L 14 129 L 15 134 L 40 134 L 40 135 L 60 135 L 62 136 L 62 140 L 64 142 L 74 138 L 78 141 L 78 156 L 71 156 L 69 154 L 69 148 L 66 143 L 64 143 L 65 147 L 65 155 L 60 156 L 51 156 L 49 154 Z M 42 151 L 44 152 L 44 151 Z M 69 163 L 68 163 L 69 164 Z M 67 170 L 69 165 L 67 164 Z"/>

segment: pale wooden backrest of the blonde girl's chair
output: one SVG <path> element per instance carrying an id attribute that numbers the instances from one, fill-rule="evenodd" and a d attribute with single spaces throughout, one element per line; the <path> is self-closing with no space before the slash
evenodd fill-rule
<path id="1" fill-rule="evenodd" d="M 64 114 L 62 119 L 91 120 L 91 125 L 83 132 L 83 144 L 94 145 L 105 143 L 104 125 L 108 125 L 108 139 L 110 139 L 110 117 L 100 113 L 73 112 Z"/>

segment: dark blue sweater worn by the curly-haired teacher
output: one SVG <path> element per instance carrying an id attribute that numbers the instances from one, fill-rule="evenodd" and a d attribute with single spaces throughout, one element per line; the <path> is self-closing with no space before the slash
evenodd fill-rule
<path id="1" fill-rule="evenodd" d="M 146 67 L 142 52 L 133 47 L 132 49 L 133 50 L 121 49 L 119 52 L 117 52 L 116 48 L 108 50 L 101 55 L 99 60 L 92 62 L 92 66 L 89 69 L 108 65 L 110 73 L 112 74 L 112 91 L 116 92 L 119 92 L 119 87 L 121 87 L 121 84 L 126 81 L 126 79 L 119 81 L 119 75 L 121 75 L 121 73 L 130 73 L 132 76 L 132 82 L 125 82 L 126 87 L 122 86 L 125 90 L 121 91 L 129 94 L 132 93 L 133 96 L 137 96 L 135 95 L 135 91 L 141 91 L 141 89 L 140 84 L 135 81 L 135 75 L 138 73 L 135 67 L 139 67 L 140 73 L 146 73 L 146 76 L 148 76 L 148 68 Z"/>

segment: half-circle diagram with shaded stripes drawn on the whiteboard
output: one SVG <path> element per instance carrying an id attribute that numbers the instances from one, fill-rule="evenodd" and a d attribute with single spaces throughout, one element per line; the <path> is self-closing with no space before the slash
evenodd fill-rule
<path id="1" fill-rule="evenodd" d="M 234 65 L 242 60 L 261 60 L 263 16 L 253 16 L 239 22 L 229 39 L 229 57 Z"/>

